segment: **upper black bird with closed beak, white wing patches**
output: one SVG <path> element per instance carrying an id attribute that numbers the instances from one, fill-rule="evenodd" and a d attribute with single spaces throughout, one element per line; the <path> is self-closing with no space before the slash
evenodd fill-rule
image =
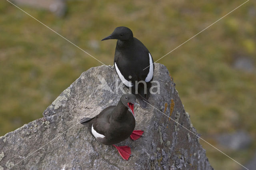
<path id="1" fill-rule="evenodd" d="M 148 99 L 154 74 L 154 61 L 150 52 L 140 40 L 133 37 L 127 27 L 117 27 L 102 41 L 109 39 L 117 39 L 114 57 L 116 73 L 126 87 L 131 87 L 132 94 L 136 95 L 141 107 L 145 108 L 147 103 L 143 100 Z"/>

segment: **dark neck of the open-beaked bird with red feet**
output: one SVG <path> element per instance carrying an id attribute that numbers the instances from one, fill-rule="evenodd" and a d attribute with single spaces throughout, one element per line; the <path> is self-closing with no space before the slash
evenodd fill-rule
<path id="1" fill-rule="evenodd" d="M 112 113 L 112 119 L 125 120 L 127 117 L 127 112 L 128 108 L 120 100 Z"/>

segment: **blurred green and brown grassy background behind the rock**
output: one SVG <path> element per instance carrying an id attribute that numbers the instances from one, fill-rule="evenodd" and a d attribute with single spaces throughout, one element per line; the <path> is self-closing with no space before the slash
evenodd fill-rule
<path id="1" fill-rule="evenodd" d="M 75 1 L 64 17 L 20 7 L 106 65 L 116 41 L 100 42 L 127 26 L 154 61 L 244 1 Z M 166 65 L 202 138 L 246 164 L 256 150 L 256 3 L 249 1 L 158 61 Z M 242 63 L 242 64 L 241 64 Z M 83 71 L 101 65 L 54 32 L 0 1 L 0 136 L 42 117 L 48 105 Z M 231 150 L 216 142 L 224 132 L 245 130 L 250 146 Z M 241 166 L 201 141 L 216 169 Z"/>

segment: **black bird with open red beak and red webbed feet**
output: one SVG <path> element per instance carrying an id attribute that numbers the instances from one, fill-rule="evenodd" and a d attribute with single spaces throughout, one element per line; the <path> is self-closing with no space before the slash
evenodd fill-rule
<path id="1" fill-rule="evenodd" d="M 119 154 L 125 160 L 131 156 L 129 146 L 116 146 L 129 136 L 136 140 L 142 136 L 142 130 L 134 130 L 134 104 L 136 104 L 136 96 L 132 94 L 122 95 L 116 106 L 110 106 L 100 112 L 93 118 L 84 118 L 80 121 L 82 125 L 86 125 L 92 136 L 100 143 L 105 145 L 113 145 Z"/>

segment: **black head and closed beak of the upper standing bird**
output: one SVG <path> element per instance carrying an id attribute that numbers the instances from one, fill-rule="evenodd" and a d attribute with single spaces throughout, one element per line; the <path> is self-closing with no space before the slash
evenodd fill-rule
<path id="1" fill-rule="evenodd" d="M 133 38 L 132 30 L 127 27 L 116 27 L 114 32 L 110 34 L 110 36 L 103 38 L 101 41 L 104 40 L 110 40 L 110 39 L 116 39 L 121 41 L 127 41 Z"/>

